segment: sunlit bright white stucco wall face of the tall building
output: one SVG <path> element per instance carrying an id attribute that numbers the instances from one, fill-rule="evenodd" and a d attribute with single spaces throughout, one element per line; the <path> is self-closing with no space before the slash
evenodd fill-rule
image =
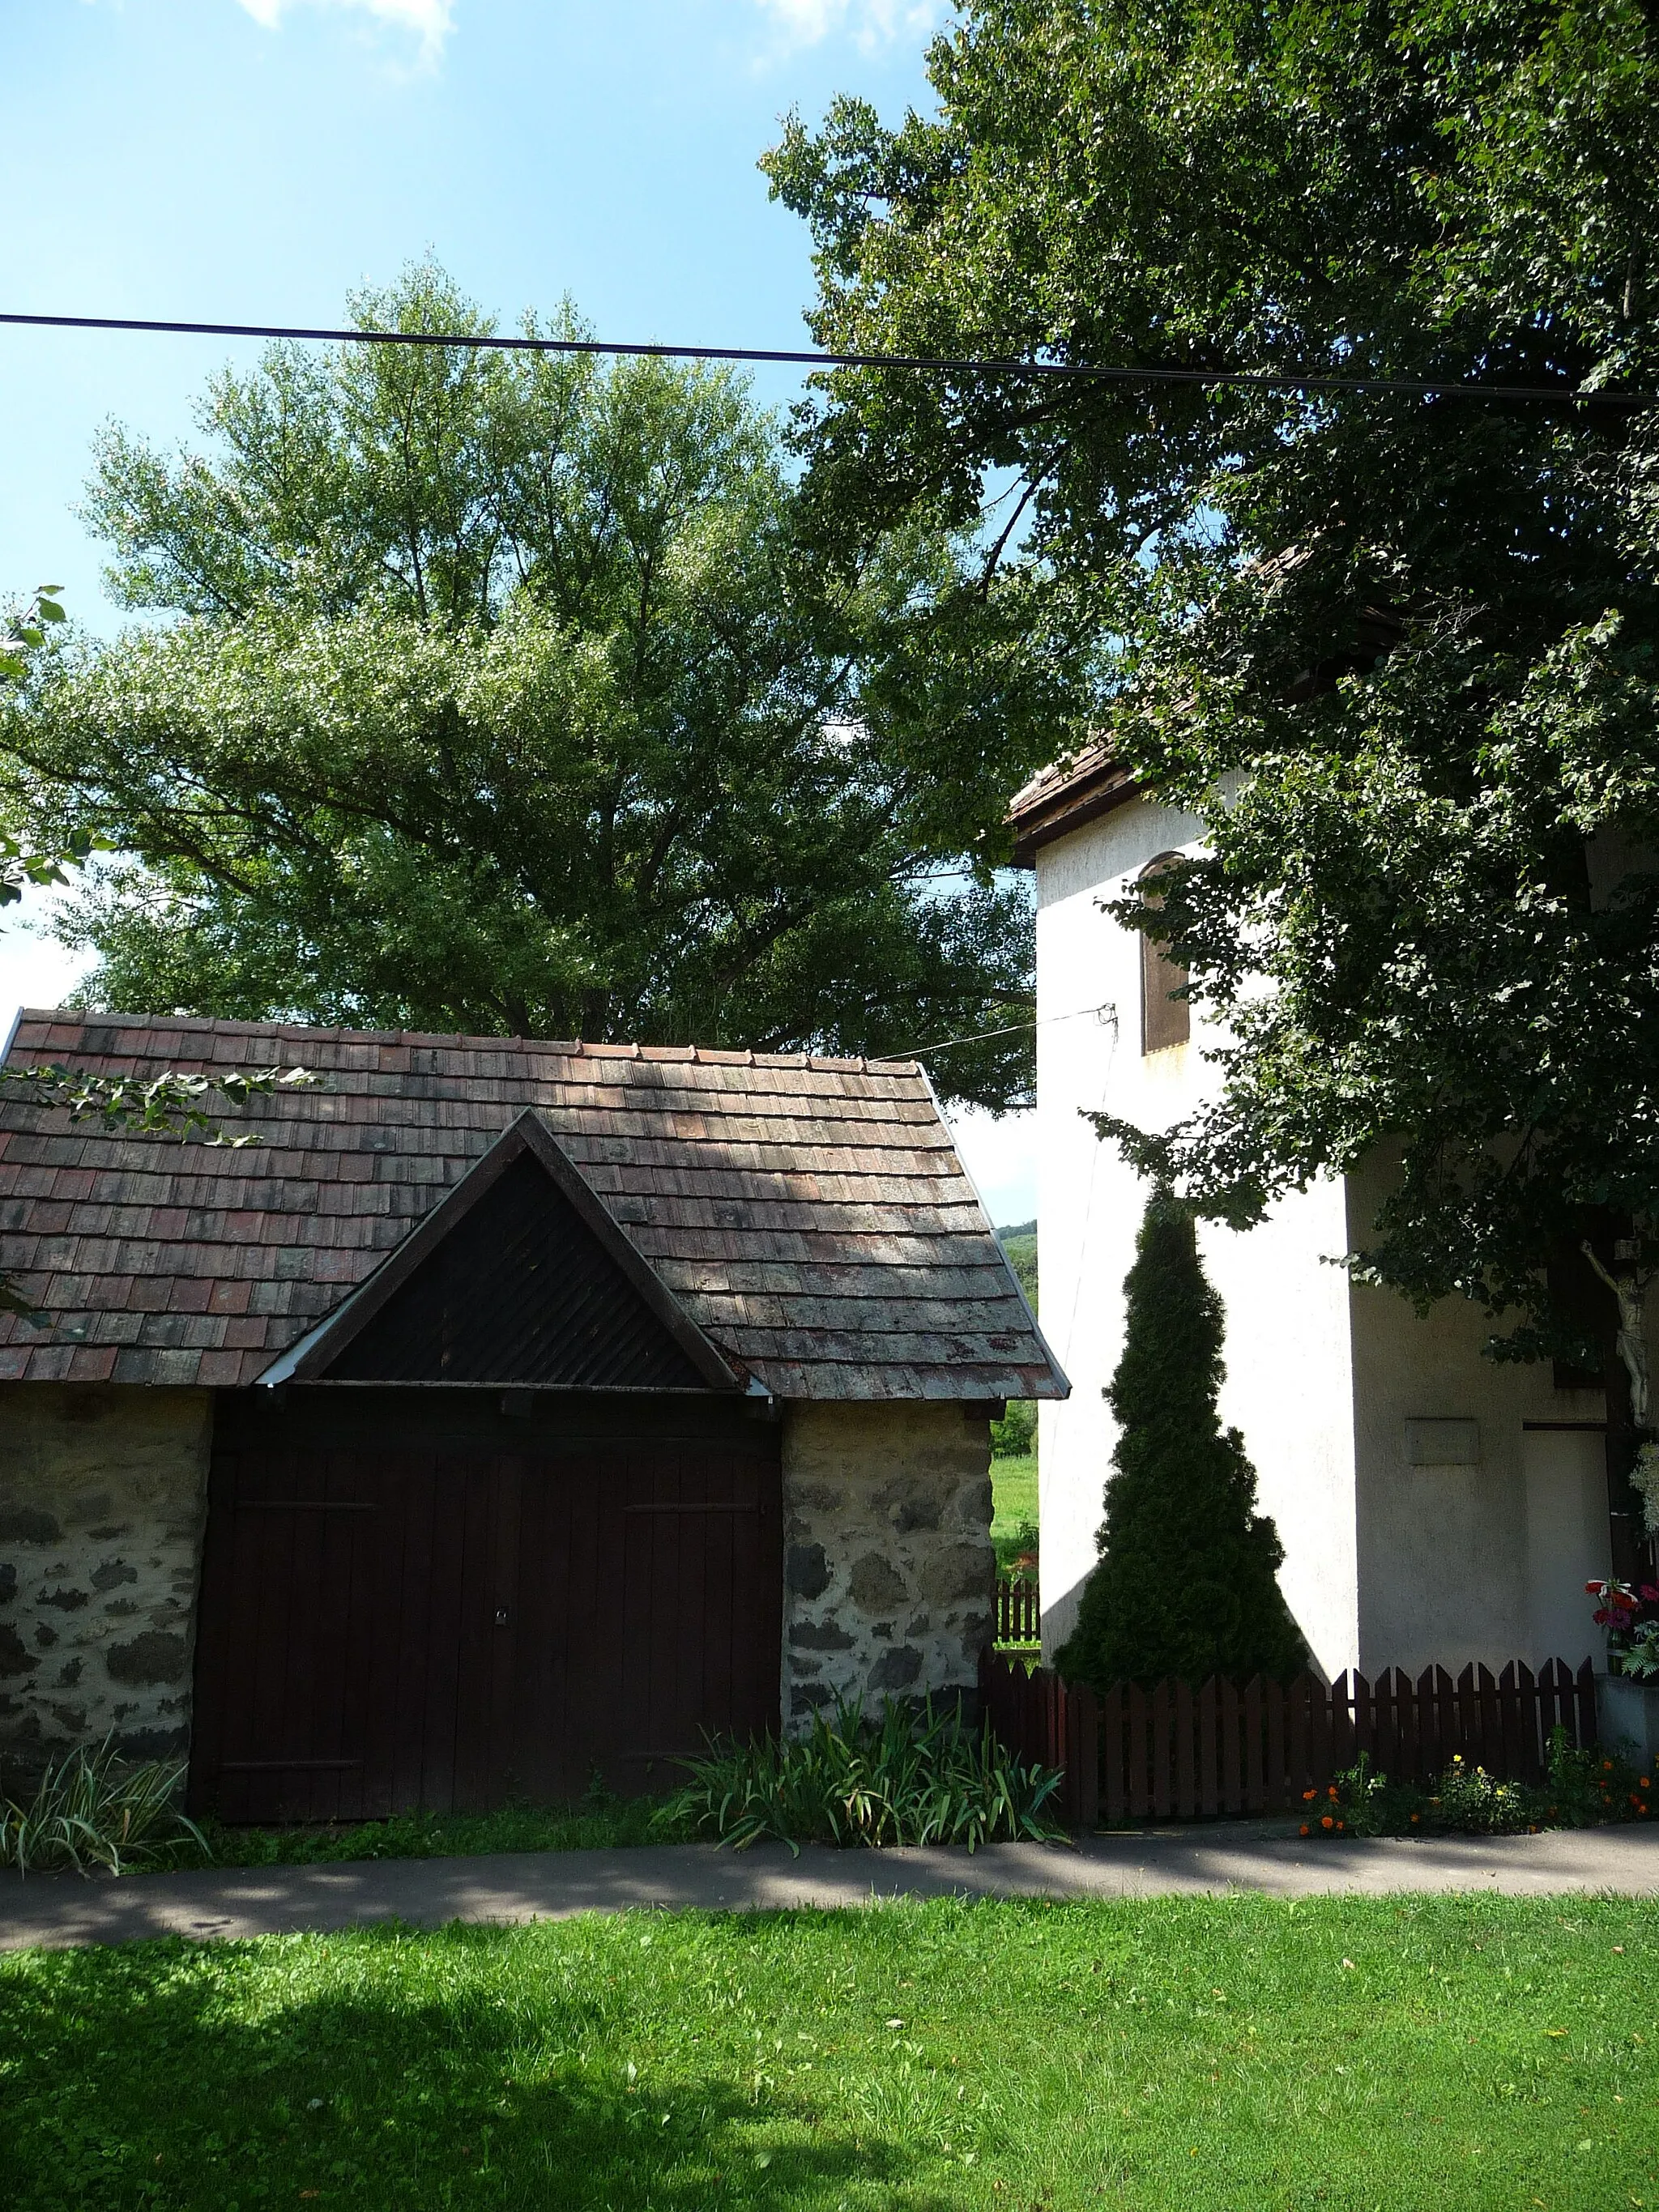
<path id="1" fill-rule="evenodd" d="M 1124 1276 L 1146 1190 L 1082 1119 L 1110 1108 L 1144 1128 L 1197 1104 L 1214 1042 L 1141 1055 L 1139 938 L 1099 911 L 1197 823 L 1150 801 L 1119 807 L 1037 854 L 1037 1237 L 1042 1327 L 1073 1383 L 1042 1407 L 1044 1650 L 1071 1632 L 1095 1564 L 1115 1425 L 1102 1389 L 1124 1340 Z M 1079 1009 L 1108 1000 L 1117 1018 Z M 1283 1588 L 1321 1666 L 1358 1657 L 1354 1418 L 1343 1197 L 1325 1186 L 1279 1206 L 1248 1237 L 1206 1225 L 1199 1245 L 1228 1307 L 1221 1411 L 1243 1429 L 1261 1504 L 1285 1544 Z"/>

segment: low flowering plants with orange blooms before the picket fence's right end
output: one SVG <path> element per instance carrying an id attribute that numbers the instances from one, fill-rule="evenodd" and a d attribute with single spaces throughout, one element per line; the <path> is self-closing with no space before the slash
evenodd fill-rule
<path id="1" fill-rule="evenodd" d="M 1509 1783 L 1453 1754 L 1429 1790 L 1391 1783 L 1360 1752 L 1325 1790 L 1305 1790 L 1303 1836 L 1515 1836 L 1540 1827 L 1646 1820 L 1652 1776 L 1599 1743 L 1575 1745 L 1551 1730 L 1542 1783 Z"/>

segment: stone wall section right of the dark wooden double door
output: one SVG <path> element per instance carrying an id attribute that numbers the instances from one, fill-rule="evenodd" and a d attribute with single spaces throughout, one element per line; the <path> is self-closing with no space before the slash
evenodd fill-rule
<path id="1" fill-rule="evenodd" d="M 982 1409 L 783 1409 L 785 1728 L 836 1697 L 971 1697 L 993 1590 Z"/>

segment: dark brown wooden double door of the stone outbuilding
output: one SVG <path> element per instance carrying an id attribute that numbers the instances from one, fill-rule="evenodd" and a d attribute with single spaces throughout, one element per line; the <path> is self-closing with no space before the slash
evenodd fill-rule
<path id="1" fill-rule="evenodd" d="M 776 1725 L 774 1427 L 695 1400 L 509 1418 L 440 1396 L 221 1411 L 195 1809 L 358 1820 L 571 1798 L 595 1774 L 637 1794 L 672 1787 L 706 1730 Z"/>

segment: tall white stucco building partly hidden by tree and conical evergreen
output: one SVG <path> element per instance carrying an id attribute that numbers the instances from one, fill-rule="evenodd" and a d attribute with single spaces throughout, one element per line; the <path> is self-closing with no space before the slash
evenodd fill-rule
<path id="1" fill-rule="evenodd" d="M 1179 971 L 1102 905 L 1159 858 L 1197 852 L 1199 821 L 1141 792 L 1102 745 L 1029 783 L 1011 818 L 1015 860 L 1037 880 L 1040 1318 L 1073 1383 L 1040 1413 L 1053 1655 L 1095 1564 L 1115 1442 L 1102 1389 L 1146 1203 L 1084 1113 L 1168 1126 L 1217 1071 L 1201 1009 L 1168 998 Z M 1482 1358 L 1491 1323 L 1464 1301 L 1420 1321 L 1329 1265 L 1369 1219 L 1360 1179 L 1332 1179 L 1256 1230 L 1199 1223 L 1228 1314 L 1221 1413 L 1279 1524 L 1281 1584 L 1316 1663 L 1327 1677 L 1599 1663 L 1584 1584 L 1608 1571 L 1601 1394 L 1557 1389 L 1548 1363 Z"/>

